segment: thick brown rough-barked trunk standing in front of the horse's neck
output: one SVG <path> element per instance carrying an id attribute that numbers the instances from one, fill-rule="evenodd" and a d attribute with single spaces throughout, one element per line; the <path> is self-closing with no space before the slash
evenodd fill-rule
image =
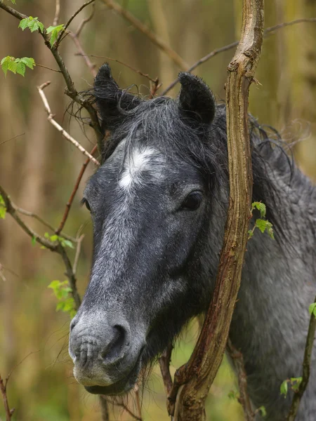
<path id="1" fill-rule="evenodd" d="M 197 346 L 187 364 L 177 370 L 169 394 L 169 412 L 175 421 L 206 420 L 205 399 L 223 359 L 237 300 L 252 194 L 248 94 L 262 41 L 263 0 L 244 0 L 242 35 L 228 66 L 226 83 L 230 173 L 228 219 L 209 312 Z"/>

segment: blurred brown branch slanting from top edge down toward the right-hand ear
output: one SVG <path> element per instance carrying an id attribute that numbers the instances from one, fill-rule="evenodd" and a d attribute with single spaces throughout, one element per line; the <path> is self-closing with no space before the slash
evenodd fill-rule
<path id="1" fill-rule="evenodd" d="M 116 11 L 119 13 L 119 15 L 123 16 L 123 18 L 131 22 L 131 24 L 140 32 L 143 32 L 143 34 L 145 34 L 155 46 L 164 51 L 164 53 L 166 53 L 166 55 L 168 55 L 169 58 L 171 58 L 171 60 L 173 60 L 173 62 L 175 62 L 178 67 L 180 67 L 180 69 L 185 70 L 187 67 L 189 67 L 185 60 L 183 60 L 183 58 L 181 58 L 180 55 L 176 53 L 176 51 L 174 51 L 168 44 L 166 44 L 166 42 L 159 38 L 157 34 L 154 34 L 154 32 L 152 32 L 149 27 L 144 25 L 143 22 L 140 22 L 140 20 L 138 20 L 129 11 L 126 11 L 113 0 L 103 0 L 103 3 L 105 3 L 108 8 Z"/>

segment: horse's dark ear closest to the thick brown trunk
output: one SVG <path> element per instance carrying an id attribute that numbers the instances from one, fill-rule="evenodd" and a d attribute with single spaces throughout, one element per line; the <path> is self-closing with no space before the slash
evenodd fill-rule
<path id="1" fill-rule="evenodd" d="M 197 76 L 179 73 L 181 90 L 179 108 L 182 115 L 197 123 L 211 124 L 215 116 L 215 98 L 209 86 Z"/>

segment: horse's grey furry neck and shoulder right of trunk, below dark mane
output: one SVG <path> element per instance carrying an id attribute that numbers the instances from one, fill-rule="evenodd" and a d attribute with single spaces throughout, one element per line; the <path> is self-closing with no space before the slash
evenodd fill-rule
<path id="1" fill-rule="evenodd" d="M 280 396 L 282 381 L 301 376 L 308 305 L 315 296 L 315 272 L 311 269 L 315 267 L 315 260 L 312 261 L 315 234 L 312 220 L 306 216 L 308 210 L 300 199 L 306 199 L 310 185 L 301 186 L 301 190 L 289 186 L 285 189 L 279 175 L 275 174 L 274 180 L 277 206 L 282 214 L 279 230 L 275 232 L 277 239 L 272 240 L 256 229 L 247 243 L 241 288 L 230 327 L 230 339 L 244 356 L 251 399 L 254 406 L 265 406 L 270 421 L 284 419 L 289 409 L 291 393 L 287 399 Z M 262 201 L 265 200 L 267 206 L 275 204 L 268 203 L 272 196 L 263 197 Z M 316 393 L 314 378 L 315 373 L 311 375 L 297 420 L 312 419 L 308 413 L 316 410 L 316 400 L 308 400 L 308 394 Z"/>

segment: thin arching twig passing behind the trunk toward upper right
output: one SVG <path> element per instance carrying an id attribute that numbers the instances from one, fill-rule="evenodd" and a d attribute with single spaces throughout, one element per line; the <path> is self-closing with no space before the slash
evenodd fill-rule
<path id="1" fill-rule="evenodd" d="M 296 19 L 296 20 L 291 20 L 291 22 L 279 23 L 279 25 L 275 25 L 273 27 L 266 28 L 265 31 L 263 32 L 263 37 L 266 38 L 267 36 L 269 36 L 273 32 L 277 31 L 278 29 L 282 29 L 284 27 L 291 26 L 291 25 L 296 25 L 298 23 L 303 23 L 303 22 L 306 22 L 306 23 L 308 23 L 308 22 L 310 22 L 310 23 L 316 22 L 316 18 Z M 235 42 L 232 42 L 231 44 L 228 44 L 227 46 L 216 48 L 215 50 L 211 51 L 211 53 L 206 54 L 206 55 L 204 55 L 204 57 L 202 57 L 199 60 L 197 60 L 197 62 L 195 62 L 192 66 L 190 66 L 186 71 L 187 72 L 192 72 L 192 70 L 196 69 L 199 65 L 202 65 L 204 62 L 208 61 L 210 58 L 213 58 L 215 55 L 218 55 L 219 53 L 223 53 L 224 51 L 228 51 L 228 50 L 231 50 L 232 48 L 235 48 L 238 45 L 238 43 L 239 43 L 239 41 L 235 41 Z M 174 86 L 176 86 L 177 83 L 178 83 L 178 79 L 175 79 L 164 90 L 164 92 L 162 93 L 162 95 L 166 95 L 166 93 L 168 93 L 169 91 L 171 91 L 171 89 Z"/>

